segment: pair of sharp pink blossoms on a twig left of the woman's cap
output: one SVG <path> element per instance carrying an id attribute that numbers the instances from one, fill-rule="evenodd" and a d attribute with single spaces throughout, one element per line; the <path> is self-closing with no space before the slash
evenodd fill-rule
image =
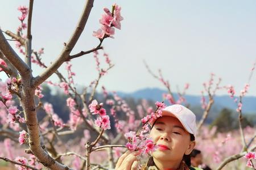
<path id="1" fill-rule="evenodd" d="M 110 120 L 109 116 L 106 115 L 106 110 L 102 108 L 103 103 L 98 104 L 97 100 L 93 100 L 91 104 L 89 104 L 89 109 L 92 114 L 98 114 L 97 120 L 95 121 L 95 124 L 106 130 L 110 129 Z"/>

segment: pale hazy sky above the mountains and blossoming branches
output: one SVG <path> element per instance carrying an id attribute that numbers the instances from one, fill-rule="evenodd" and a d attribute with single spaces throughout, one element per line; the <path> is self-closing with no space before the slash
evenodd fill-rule
<path id="1" fill-rule="evenodd" d="M 56 58 L 68 41 L 85 1 L 35 1 L 32 46 L 45 48 L 43 60 Z M 101 84 L 109 90 L 131 92 L 145 87 L 163 88 L 147 73 L 143 59 L 152 70 L 162 69 L 173 91 L 190 83 L 188 94 L 200 95 L 210 73 L 220 76 L 222 85 L 232 84 L 240 91 L 256 59 L 256 1 L 96 1 L 72 54 L 98 44 L 92 32 L 100 27 L 103 7 L 122 6 L 122 29 L 115 39 L 104 41 L 105 52 L 115 64 Z M 19 25 L 19 5 L 28 1 L 2 1 L 0 26 L 15 31 Z M 103 57 L 101 58 L 103 62 Z M 92 55 L 72 61 L 75 82 L 88 84 L 96 78 Z M 42 70 L 33 66 L 33 74 Z M 60 71 L 65 73 L 64 69 Z M 3 74 L 0 73 L 3 78 Z M 57 81 L 56 76 L 50 78 Z M 256 74 L 249 95 L 256 95 Z M 220 91 L 218 94 L 226 94 Z"/>

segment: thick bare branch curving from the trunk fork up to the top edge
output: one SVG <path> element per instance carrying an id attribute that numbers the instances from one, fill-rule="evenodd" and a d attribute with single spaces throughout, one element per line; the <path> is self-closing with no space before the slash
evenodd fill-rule
<path id="1" fill-rule="evenodd" d="M 71 39 L 69 39 L 67 45 L 62 50 L 60 56 L 51 64 L 51 66 L 44 70 L 43 73 L 36 76 L 36 78 L 32 82 L 33 87 L 37 87 L 39 86 L 39 84 L 43 83 L 49 76 L 55 73 L 55 71 L 63 64 L 63 62 L 67 61 L 67 59 L 69 58 L 69 54 L 71 53 L 72 49 L 76 45 L 76 42 L 79 40 L 82 31 L 84 30 L 90 11 L 93 7 L 93 2 L 94 0 L 87 1 L 84 7 L 84 11 L 82 12 L 82 15 L 80 17 L 79 23 L 77 24 L 77 27 L 73 32 Z"/>

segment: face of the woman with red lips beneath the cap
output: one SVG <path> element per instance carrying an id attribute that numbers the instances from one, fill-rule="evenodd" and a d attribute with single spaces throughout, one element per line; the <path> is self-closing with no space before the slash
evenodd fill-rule
<path id="1" fill-rule="evenodd" d="M 190 134 L 175 117 L 163 116 L 156 120 L 150 131 L 150 137 L 158 148 L 152 153 L 158 161 L 180 162 L 195 147 Z"/>

